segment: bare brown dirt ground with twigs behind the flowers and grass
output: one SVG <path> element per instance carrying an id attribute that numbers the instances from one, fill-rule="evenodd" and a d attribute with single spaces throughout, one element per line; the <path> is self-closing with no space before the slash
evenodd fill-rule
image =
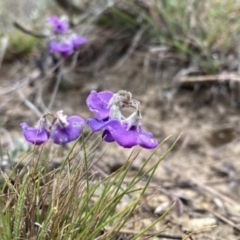
<path id="1" fill-rule="evenodd" d="M 181 134 L 173 151 L 157 169 L 148 190 L 149 196 L 153 193 L 154 196 L 149 199 L 146 196 L 145 207 L 139 210 L 138 216 L 143 220 L 134 224 L 134 231 L 151 223 L 175 202 L 169 215 L 153 229 L 159 231 L 166 227 L 165 237 L 156 239 L 182 239 L 194 231 L 188 239 L 240 239 L 240 109 L 231 106 L 229 83 L 181 85 L 171 98 L 171 91 L 175 89 L 173 85 L 169 87 L 171 74 L 156 81 L 154 66 L 144 73 L 143 56 L 135 52 L 115 70 L 105 68 L 91 72 L 77 66 L 75 72 L 67 75 L 67 87 L 62 87 L 58 93 L 54 110 L 63 109 L 66 114 L 88 118 L 91 113 L 85 99 L 92 89 L 132 92 L 141 102 L 143 128 L 151 131 L 159 142 L 170 136 L 157 150 L 152 163 Z M 23 103 L 21 93 L 25 96 L 35 94 L 38 86 L 50 81 L 40 78 L 34 84 L 22 86 L 35 71 L 31 65 L 26 65 L 16 60 L 0 69 L 0 119 L 13 139 L 21 137 L 19 124 L 22 121 L 33 124 L 37 120 Z M 34 94 L 28 97 L 30 101 L 35 101 Z M 45 103 L 50 101 L 50 96 L 48 88 L 43 87 Z M 102 143 L 99 155 L 104 150 L 106 153 L 98 164 L 106 173 L 111 173 L 133 149 Z M 132 168 L 133 174 L 150 153 L 149 150 L 140 151 Z"/>

